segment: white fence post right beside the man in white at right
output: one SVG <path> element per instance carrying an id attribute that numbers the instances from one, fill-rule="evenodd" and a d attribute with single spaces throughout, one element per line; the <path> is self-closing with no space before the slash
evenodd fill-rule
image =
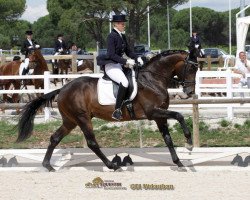
<path id="1" fill-rule="evenodd" d="M 232 88 L 233 88 L 233 81 L 232 81 L 232 73 L 231 71 L 227 70 L 226 71 L 226 83 L 227 83 L 227 98 L 231 99 L 233 98 L 233 92 L 232 92 Z M 229 120 L 232 120 L 234 117 L 233 114 L 233 106 L 232 104 L 227 106 L 227 118 Z"/>

